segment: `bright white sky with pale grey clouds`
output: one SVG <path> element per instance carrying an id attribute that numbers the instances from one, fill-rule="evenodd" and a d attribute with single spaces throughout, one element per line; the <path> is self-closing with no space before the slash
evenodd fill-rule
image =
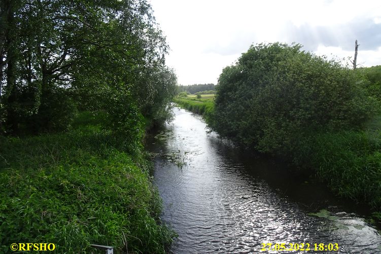
<path id="1" fill-rule="evenodd" d="M 217 84 L 251 45 L 293 42 L 350 64 L 381 65 L 381 1 L 149 0 L 178 83 Z"/>

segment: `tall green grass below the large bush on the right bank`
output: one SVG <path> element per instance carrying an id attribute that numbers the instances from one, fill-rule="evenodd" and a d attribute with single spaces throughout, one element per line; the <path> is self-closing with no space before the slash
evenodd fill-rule
<path id="1" fill-rule="evenodd" d="M 299 164 L 314 168 L 334 193 L 381 211 L 381 117 L 365 130 L 316 134 L 297 149 Z"/>

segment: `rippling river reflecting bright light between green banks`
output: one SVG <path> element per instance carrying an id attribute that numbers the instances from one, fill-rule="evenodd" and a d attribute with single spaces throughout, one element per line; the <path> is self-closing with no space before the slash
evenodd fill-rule
<path id="1" fill-rule="evenodd" d="M 381 253 L 380 233 L 350 201 L 208 133 L 200 116 L 174 111 L 174 121 L 148 140 L 161 218 L 179 235 L 170 252 Z M 300 251 L 301 243 L 310 250 Z"/>

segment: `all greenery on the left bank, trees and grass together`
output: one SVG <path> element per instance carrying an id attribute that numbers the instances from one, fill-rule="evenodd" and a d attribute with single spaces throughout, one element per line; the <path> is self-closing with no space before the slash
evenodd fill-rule
<path id="1" fill-rule="evenodd" d="M 164 252 L 142 137 L 170 117 L 177 80 L 150 5 L 2 0 L 0 27 L 0 252 Z M 79 126 L 83 111 L 100 121 Z"/>

